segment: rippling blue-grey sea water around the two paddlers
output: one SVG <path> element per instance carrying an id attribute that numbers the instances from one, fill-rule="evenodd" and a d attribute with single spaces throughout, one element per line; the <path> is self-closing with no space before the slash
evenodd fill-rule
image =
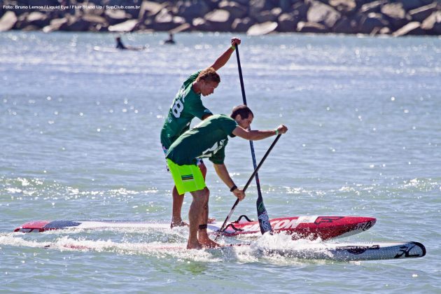
<path id="1" fill-rule="evenodd" d="M 113 50 L 112 34 L 0 34 L 1 293 L 441 292 L 434 37 L 240 36 L 239 48 L 252 127 L 289 128 L 259 173 L 269 217 L 374 216 L 373 228 L 338 241 L 420 241 L 423 258 L 330 262 L 240 248 L 152 249 L 185 244 L 185 228 L 13 233 L 33 220 L 169 221 L 160 127 L 182 81 L 211 65 L 231 36 L 179 34 L 177 45 L 161 45 L 166 37 L 123 36 L 146 46 L 138 52 Z M 221 84 L 203 102 L 229 114 L 242 102 L 235 55 L 219 73 Z M 258 160 L 271 142 L 255 142 Z M 253 172 L 248 142 L 231 139 L 226 153 L 244 185 Z M 221 221 L 235 198 L 207 167 L 210 216 Z M 256 217 L 255 186 L 246 195 L 233 218 Z M 186 196 L 185 219 L 190 202 Z"/>

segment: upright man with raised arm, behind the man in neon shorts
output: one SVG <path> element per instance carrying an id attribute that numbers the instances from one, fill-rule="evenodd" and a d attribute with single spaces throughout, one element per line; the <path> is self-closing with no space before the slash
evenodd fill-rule
<path id="1" fill-rule="evenodd" d="M 240 39 L 232 38 L 231 47 L 225 50 L 225 52 L 216 59 L 214 64 L 207 69 L 193 73 L 181 85 L 162 126 L 161 144 L 164 153 L 167 153 L 172 143 L 178 139 L 183 132 L 186 132 L 186 130 L 190 128 L 190 123 L 193 118 L 197 117 L 200 118 L 200 120 L 204 120 L 213 114 L 202 104 L 201 94 L 202 96 L 212 94 L 214 89 L 221 83 L 221 78 L 216 71 L 221 69 L 221 67 L 228 62 L 232 52 L 235 50 L 236 44 L 240 44 Z M 197 165 L 200 167 L 202 176 L 205 178 L 207 167 L 205 167 L 204 162 L 198 160 Z M 183 194 L 179 194 L 175 186 L 172 190 L 172 195 L 173 212 L 171 227 L 186 225 L 181 218 Z"/>

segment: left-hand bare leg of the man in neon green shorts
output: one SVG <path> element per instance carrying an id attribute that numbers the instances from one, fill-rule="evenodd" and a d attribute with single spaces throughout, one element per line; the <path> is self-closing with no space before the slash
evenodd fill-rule
<path id="1" fill-rule="evenodd" d="M 197 239 L 197 229 L 199 228 L 200 222 L 203 218 L 204 205 L 208 201 L 209 190 L 204 188 L 202 190 L 197 190 L 191 193 L 193 196 L 193 202 L 190 205 L 190 211 L 188 212 L 188 220 L 190 221 L 190 234 L 188 235 L 188 249 L 200 249 L 202 244 L 200 244 Z"/>

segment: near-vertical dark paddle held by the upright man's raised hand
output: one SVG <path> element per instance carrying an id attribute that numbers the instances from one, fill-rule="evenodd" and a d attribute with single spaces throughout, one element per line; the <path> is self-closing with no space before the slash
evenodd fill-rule
<path id="1" fill-rule="evenodd" d="M 237 58 L 237 69 L 239 70 L 240 87 L 242 90 L 242 99 L 244 100 L 244 104 L 246 105 L 244 78 L 242 77 L 242 68 L 240 66 L 239 45 L 237 44 L 236 44 L 236 58 Z M 250 141 L 250 148 L 251 148 L 251 157 L 253 158 L 253 167 L 254 169 L 256 169 L 253 141 Z M 259 175 L 257 173 L 255 174 L 255 184 L 258 190 L 258 199 L 255 202 L 255 204 L 258 211 L 260 232 L 263 235 L 265 232 L 272 232 L 272 228 L 271 228 L 271 223 L 269 223 L 267 209 L 265 209 L 265 204 L 263 204 L 262 192 L 260 191 Z"/>

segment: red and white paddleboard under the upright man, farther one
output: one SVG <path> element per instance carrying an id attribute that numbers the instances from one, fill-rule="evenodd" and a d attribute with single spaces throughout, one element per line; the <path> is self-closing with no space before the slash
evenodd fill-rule
<path id="1" fill-rule="evenodd" d="M 310 238 L 332 239 L 347 237 L 364 232 L 372 227 L 376 218 L 363 216 L 293 216 L 273 218 L 271 222 L 274 232 L 285 232 L 293 235 L 293 239 Z M 222 223 L 210 223 L 209 233 L 216 234 Z M 14 232 L 45 232 L 50 230 L 97 230 L 111 228 L 130 229 L 169 229 L 169 223 L 152 223 L 142 221 L 31 221 L 16 228 Z M 258 221 L 239 218 L 228 224 L 223 231 L 225 236 L 260 235 Z"/>

